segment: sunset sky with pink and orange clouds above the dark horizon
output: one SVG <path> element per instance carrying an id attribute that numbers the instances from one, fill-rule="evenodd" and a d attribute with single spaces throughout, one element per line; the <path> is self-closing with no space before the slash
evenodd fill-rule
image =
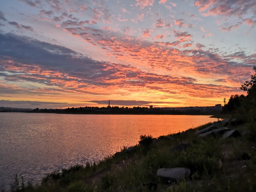
<path id="1" fill-rule="evenodd" d="M 256 65 L 255 0 L 0 0 L 0 106 L 222 104 Z"/>

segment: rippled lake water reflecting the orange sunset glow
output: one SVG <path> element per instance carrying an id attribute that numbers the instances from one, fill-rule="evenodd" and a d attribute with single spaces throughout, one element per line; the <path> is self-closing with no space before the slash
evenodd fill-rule
<path id="1" fill-rule="evenodd" d="M 209 116 L 0 113 L 0 189 L 15 174 L 37 183 L 47 173 L 98 162 L 140 135 L 159 137 L 216 121 Z"/>

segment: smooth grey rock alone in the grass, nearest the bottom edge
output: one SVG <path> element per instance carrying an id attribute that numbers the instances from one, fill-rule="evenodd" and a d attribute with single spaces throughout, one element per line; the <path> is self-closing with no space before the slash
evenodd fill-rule
<path id="1" fill-rule="evenodd" d="M 181 181 L 190 176 L 190 169 L 184 167 L 161 168 L 157 170 L 157 175 L 170 181 Z"/>

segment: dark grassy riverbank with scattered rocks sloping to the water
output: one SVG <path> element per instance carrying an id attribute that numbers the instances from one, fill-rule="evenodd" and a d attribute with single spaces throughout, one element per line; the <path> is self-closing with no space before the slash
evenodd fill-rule
<path id="1" fill-rule="evenodd" d="M 215 131 L 195 134 L 210 126 Z M 222 127 L 237 131 L 223 138 L 228 130 Z M 22 191 L 256 191 L 255 140 L 255 124 L 241 121 L 219 121 L 157 139 L 145 135 L 140 144 L 98 164 L 50 173 L 35 187 L 18 185 Z M 182 169 L 169 169 L 177 167 Z M 176 176 L 161 176 L 161 168 Z"/>

